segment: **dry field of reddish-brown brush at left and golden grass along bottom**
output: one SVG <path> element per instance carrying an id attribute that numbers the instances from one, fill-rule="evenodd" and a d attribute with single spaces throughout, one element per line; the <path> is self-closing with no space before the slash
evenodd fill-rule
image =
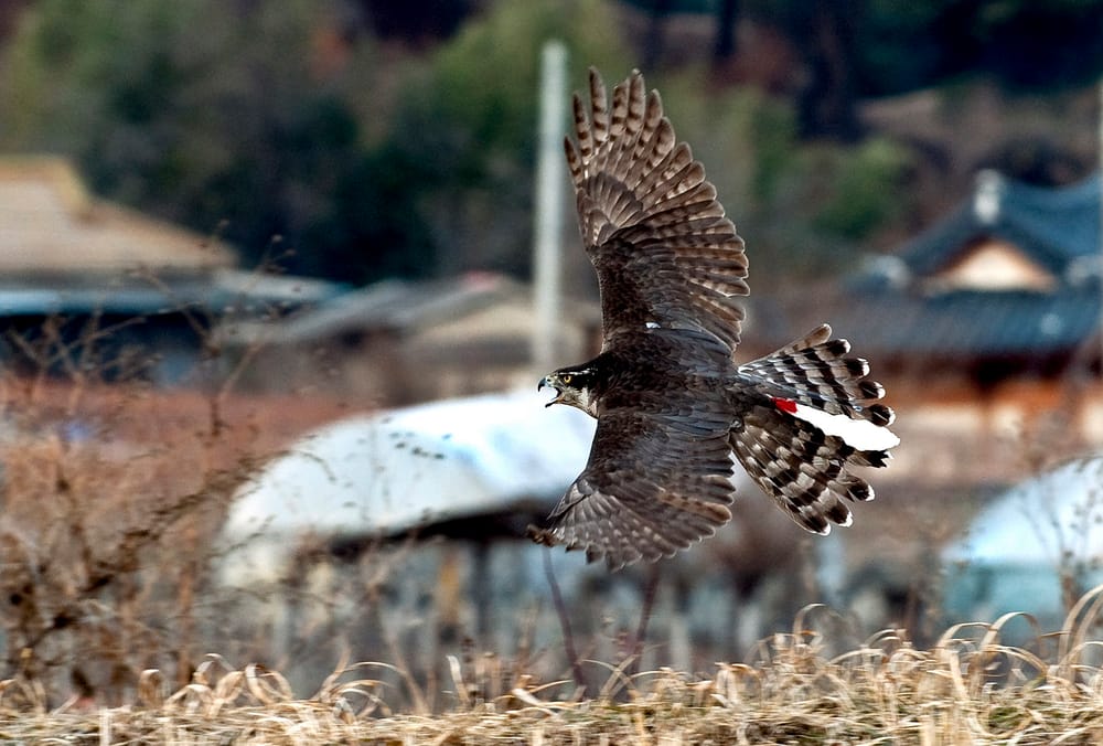
<path id="1" fill-rule="evenodd" d="M 379 660 L 345 658 L 312 695 L 292 694 L 279 665 L 251 662 L 275 659 L 250 658 L 253 641 L 225 631 L 208 539 L 244 472 L 343 408 L 41 379 L 2 393 L 17 427 L 3 440 L 0 525 L 6 742 L 1103 740 L 1103 588 L 1047 635 L 1011 615 L 929 644 L 902 629 L 849 644 L 834 611 L 808 606 L 745 662 L 696 672 L 663 668 L 657 647 L 643 672 L 632 654 L 581 661 L 582 688 L 569 668 L 548 675 L 458 639 L 436 649 L 435 680 L 381 647 Z M 1005 644 L 1024 630 L 1031 642 Z"/>

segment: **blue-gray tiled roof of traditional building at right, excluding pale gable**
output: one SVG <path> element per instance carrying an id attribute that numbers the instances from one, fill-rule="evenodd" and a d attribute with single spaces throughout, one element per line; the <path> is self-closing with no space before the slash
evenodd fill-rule
<path id="1" fill-rule="evenodd" d="M 1005 372 L 1063 370 L 1100 329 L 1100 189 L 1095 174 L 1045 189 L 982 172 L 956 210 L 874 262 L 834 313 L 864 353 L 910 365 L 946 359 Z M 939 287 L 930 280 L 986 241 L 1017 247 L 1050 287 Z M 1016 363 L 1018 365 L 1016 365 Z"/>

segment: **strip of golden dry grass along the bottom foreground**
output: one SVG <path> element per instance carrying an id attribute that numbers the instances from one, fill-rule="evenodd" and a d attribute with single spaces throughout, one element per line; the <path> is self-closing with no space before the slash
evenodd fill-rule
<path id="1" fill-rule="evenodd" d="M 0 738 L 35 743 L 378 744 L 1088 744 L 1103 738 L 1103 646 L 1090 632 L 1103 587 L 1085 595 L 1065 628 L 1039 650 L 1007 647 L 992 625 L 956 625 L 929 650 L 886 631 L 829 656 L 805 609 L 790 633 L 763 640 L 750 664 L 697 676 L 671 670 L 627 675 L 608 667 L 592 695 L 567 681 L 522 675 L 485 696 L 480 659 L 451 660 L 446 712 L 394 712 L 383 663 L 330 676 L 309 700 L 283 679 L 210 656 L 190 684 L 169 693 L 142 673 L 136 701 L 47 711 L 35 682 L 0 682 Z M 1046 654 L 1041 648 L 1050 648 Z M 590 663 L 599 665 L 598 663 Z M 410 683 L 410 685 L 414 685 Z M 417 697 L 414 697 L 417 701 Z"/>

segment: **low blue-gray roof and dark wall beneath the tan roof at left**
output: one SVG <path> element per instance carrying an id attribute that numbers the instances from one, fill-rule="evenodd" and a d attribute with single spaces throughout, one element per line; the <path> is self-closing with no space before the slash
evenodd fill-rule
<path id="1" fill-rule="evenodd" d="M 73 361 L 95 361 L 105 381 L 178 383 L 211 351 L 218 323 L 287 316 L 346 290 L 229 268 L 184 278 L 78 280 L 0 278 L 0 367 L 65 373 Z"/>

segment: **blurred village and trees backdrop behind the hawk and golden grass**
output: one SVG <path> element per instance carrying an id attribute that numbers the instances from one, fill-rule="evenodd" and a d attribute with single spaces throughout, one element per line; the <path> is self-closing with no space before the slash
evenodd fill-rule
<path id="1" fill-rule="evenodd" d="M 831 321 L 885 383 L 853 527 L 740 483 L 653 597 L 523 539 L 592 423 L 516 390 L 600 344 L 566 179 L 534 307 L 553 40 L 704 162 L 740 360 Z M 448 656 L 694 670 L 811 603 L 1059 627 L 1103 556 L 1101 71 L 1089 0 L 0 0 L 2 675 L 110 701 L 217 652 L 309 694 L 347 654 L 436 702 Z"/>

